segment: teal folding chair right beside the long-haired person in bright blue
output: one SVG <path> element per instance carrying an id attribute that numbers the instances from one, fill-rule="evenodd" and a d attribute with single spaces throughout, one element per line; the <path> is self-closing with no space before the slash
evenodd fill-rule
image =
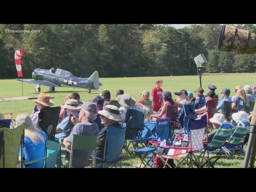
<path id="1" fill-rule="evenodd" d="M 47 139 L 45 142 L 44 158 L 23 161 L 24 166 L 44 161 L 42 168 L 55 168 L 60 151 L 60 143 Z"/>

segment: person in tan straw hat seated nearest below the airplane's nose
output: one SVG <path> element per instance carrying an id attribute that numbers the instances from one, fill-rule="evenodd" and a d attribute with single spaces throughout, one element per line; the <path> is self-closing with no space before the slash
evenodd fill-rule
<path id="1" fill-rule="evenodd" d="M 53 106 L 54 102 L 52 100 L 50 100 L 50 95 L 49 94 L 46 94 L 46 93 L 43 93 L 43 92 L 41 92 L 38 95 L 38 98 L 33 100 L 33 101 L 36 102 L 38 111 L 35 112 L 34 114 L 32 114 L 30 116 L 30 118 L 34 122 L 34 124 L 37 124 L 38 123 L 38 114 L 39 114 L 40 110 L 42 108 L 48 108 L 48 107 Z"/>

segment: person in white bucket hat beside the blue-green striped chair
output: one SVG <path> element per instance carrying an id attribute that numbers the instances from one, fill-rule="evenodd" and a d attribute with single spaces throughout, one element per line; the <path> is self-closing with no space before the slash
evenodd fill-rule
<path id="1" fill-rule="evenodd" d="M 210 118 L 210 122 L 212 123 L 213 130 L 207 134 L 208 142 L 211 142 L 212 138 L 225 121 L 224 115 L 221 113 L 214 114 L 213 118 Z M 206 141 L 206 134 L 204 135 L 204 141 Z"/>

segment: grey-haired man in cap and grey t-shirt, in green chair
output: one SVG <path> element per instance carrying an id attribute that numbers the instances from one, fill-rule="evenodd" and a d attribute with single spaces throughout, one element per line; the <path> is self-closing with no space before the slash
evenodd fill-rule
<path id="1" fill-rule="evenodd" d="M 87 136 L 98 136 L 99 134 L 98 125 L 93 122 L 97 112 L 96 105 L 91 102 L 85 102 L 82 106 L 76 109 L 80 109 L 79 118 L 75 117 L 75 119 L 72 120 L 75 126 L 72 129 L 70 135 L 66 137 L 63 141 L 63 143 L 65 144 L 65 148 L 69 150 L 71 149 L 73 134 Z M 86 162 L 85 160 L 89 160 L 91 154 L 92 150 L 74 150 L 72 166 L 75 168 L 84 168 L 88 164 L 88 162 Z"/>

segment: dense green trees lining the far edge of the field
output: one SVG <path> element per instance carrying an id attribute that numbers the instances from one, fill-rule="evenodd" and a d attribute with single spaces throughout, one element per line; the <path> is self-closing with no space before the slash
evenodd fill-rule
<path id="1" fill-rule="evenodd" d="M 240 28 L 256 32 L 252 24 Z M 40 30 L 15 32 L 7 30 Z M 176 29 L 157 24 L 0 24 L 0 78 L 15 78 L 14 52 L 25 50 L 23 74 L 32 68 L 62 68 L 76 76 L 169 76 L 196 74 L 194 57 L 204 53 L 204 72 L 256 72 L 255 55 L 216 50 L 221 25 Z"/>

